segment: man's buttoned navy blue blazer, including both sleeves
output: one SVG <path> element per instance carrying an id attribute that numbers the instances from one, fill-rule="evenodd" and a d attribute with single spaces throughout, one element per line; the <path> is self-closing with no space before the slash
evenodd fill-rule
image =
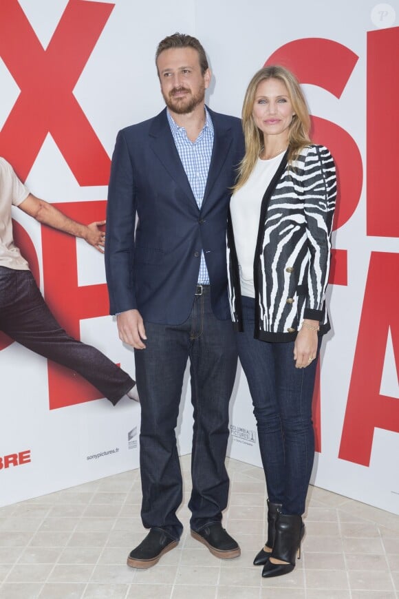
<path id="1" fill-rule="evenodd" d="M 244 136 L 238 118 L 208 110 L 215 139 L 201 210 L 177 153 L 166 108 L 118 133 L 105 244 L 111 314 L 137 308 L 144 321 L 184 322 L 193 305 L 203 250 L 213 312 L 219 319 L 230 318 L 226 222 L 230 187 L 244 156 Z"/>

